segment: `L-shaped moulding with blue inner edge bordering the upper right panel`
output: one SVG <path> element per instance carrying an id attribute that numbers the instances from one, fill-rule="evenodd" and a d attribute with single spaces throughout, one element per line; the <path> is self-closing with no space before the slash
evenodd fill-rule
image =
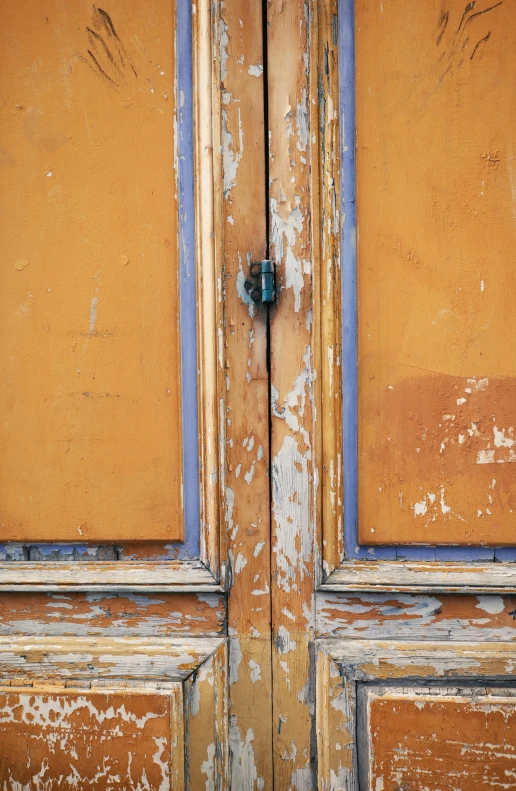
<path id="1" fill-rule="evenodd" d="M 329 22 L 326 25 L 330 27 Z M 490 591 L 509 586 L 512 590 L 516 582 L 512 547 L 358 546 L 353 0 L 339 0 L 331 35 L 329 31 L 322 35 L 327 41 L 317 69 L 324 86 L 317 130 L 322 153 L 312 196 L 321 229 L 320 238 L 315 239 L 319 255 L 314 285 L 314 312 L 320 313 L 320 323 L 314 322 L 315 363 L 320 371 L 316 393 L 322 416 L 316 431 L 321 471 L 318 585 L 364 591 L 435 588 L 453 592 L 460 586 Z M 450 574 L 454 582 L 447 588 Z"/>

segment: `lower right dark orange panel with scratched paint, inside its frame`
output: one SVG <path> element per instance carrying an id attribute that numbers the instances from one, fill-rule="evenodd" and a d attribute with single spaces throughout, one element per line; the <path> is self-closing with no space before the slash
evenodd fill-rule
<path id="1" fill-rule="evenodd" d="M 370 693 L 368 721 L 370 789 L 516 788 L 516 698 L 503 690 Z"/>

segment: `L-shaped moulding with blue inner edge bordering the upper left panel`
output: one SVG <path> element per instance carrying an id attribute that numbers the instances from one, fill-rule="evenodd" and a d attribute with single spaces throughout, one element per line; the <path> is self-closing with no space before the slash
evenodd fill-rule
<path id="1" fill-rule="evenodd" d="M 222 305 L 220 277 L 222 240 L 218 217 L 222 187 L 220 149 L 221 102 L 217 74 L 218 44 L 213 36 L 209 4 L 191 7 L 178 2 L 176 60 L 180 69 L 177 91 L 177 182 L 179 212 L 188 218 L 180 223 L 181 355 L 184 540 L 169 545 L 87 545 L 10 543 L 0 547 L 0 570 L 18 576 L 26 589 L 41 590 L 52 581 L 49 561 L 84 561 L 90 579 L 101 579 L 116 565 L 131 585 L 145 588 L 158 570 L 167 590 L 183 590 L 185 585 L 218 584 L 220 575 L 220 465 L 219 417 L 221 410 L 220 371 L 223 365 L 217 339 L 221 338 Z M 181 97 L 181 101 L 180 101 Z M 195 178 L 192 179 L 192 174 Z M 194 222 L 195 217 L 195 236 Z M 91 558 L 91 559 L 90 559 Z M 146 562 L 135 563 L 139 559 Z M 170 558 L 174 558 L 171 560 Z M 195 560 L 197 559 L 197 560 Z M 12 561 L 27 561 L 20 564 Z M 158 564 L 157 566 L 155 564 Z M 69 576 L 73 588 L 77 568 L 65 563 L 61 581 Z M 11 569 L 11 570 L 9 570 Z M 91 576 L 90 576 L 91 575 Z M 150 576 L 149 576 L 150 575 Z M 108 573 L 109 576 L 109 573 Z M 14 579 L 14 576 L 13 576 Z M 166 581 L 165 581 L 166 580 Z M 151 583 L 152 584 L 152 583 Z M 50 589 L 47 587 L 47 589 Z M 82 589 L 79 583 L 79 588 Z"/>

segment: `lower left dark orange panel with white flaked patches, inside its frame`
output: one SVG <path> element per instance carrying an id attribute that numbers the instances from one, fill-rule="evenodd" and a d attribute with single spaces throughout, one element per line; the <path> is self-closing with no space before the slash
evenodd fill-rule
<path id="1" fill-rule="evenodd" d="M 78 791 L 174 788 L 176 741 L 184 749 L 182 733 L 174 733 L 174 715 L 182 720 L 174 703 L 170 693 L 135 690 L 4 691 L 0 784 Z"/>

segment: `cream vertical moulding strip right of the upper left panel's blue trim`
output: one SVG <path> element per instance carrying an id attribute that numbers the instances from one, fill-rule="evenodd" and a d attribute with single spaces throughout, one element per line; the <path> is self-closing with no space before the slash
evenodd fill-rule
<path id="1" fill-rule="evenodd" d="M 213 13 L 213 17 L 212 17 Z M 220 574 L 224 370 L 220 344 L 222 316 L 222 236 L 220 223 L 221 96 L 218 47 L 213 36 L 216 12 L 209 0 L 192 5 L 195 130 L 195 215 L 199 294 L 199 456 L 201 557 Z M 215 25 L 216 27 L 216 25 Z"/>

